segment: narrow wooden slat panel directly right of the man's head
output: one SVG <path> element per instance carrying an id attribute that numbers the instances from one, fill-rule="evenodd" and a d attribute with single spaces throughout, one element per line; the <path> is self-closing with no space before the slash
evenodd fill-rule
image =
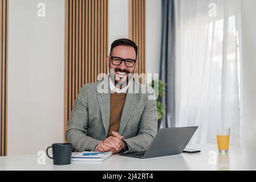
<path id="1" fill-rule="evenodd" d="M 145 0 L 129 0 L 129 39 L 138 46 L 136 73 L 145 73 Z"/>

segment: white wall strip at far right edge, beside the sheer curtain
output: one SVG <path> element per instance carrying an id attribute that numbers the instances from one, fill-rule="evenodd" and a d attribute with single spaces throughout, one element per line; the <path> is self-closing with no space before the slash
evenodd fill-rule
<path id="1" fill-rule="evenodd" d="M 256 1 L 242 0 L 242 139 L 248 160 L 255 164 L 256 152 Z"/>

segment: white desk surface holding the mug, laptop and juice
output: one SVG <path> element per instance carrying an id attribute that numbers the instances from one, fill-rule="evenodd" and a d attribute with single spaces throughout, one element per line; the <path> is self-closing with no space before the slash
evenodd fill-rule
<path id="1" fill-rule="evenodd" d="M 200 149 L 200 154 L 179 154 L 158 158 L 139 159 L 113 155 L 103 162 L 71 161 L 70 165 L 55 166 L 46 156 L 46 164 L 38 164 L 37 155 L 3 156 L 0 157 L 2 170 L 243 170 L 246 166 L 245 155 L 241 148 L 230 147 L 228 155 L 219 155 L 216 145 L 198 144 L 187 148 Z M 212 152 L 210 152 L 212 151 Z M 215 151 L 216 153 L 214 153 Z M 210 153 L 209 153 L 210 152 Z M 255 168 L 254 168 L 255 170 Z"/>

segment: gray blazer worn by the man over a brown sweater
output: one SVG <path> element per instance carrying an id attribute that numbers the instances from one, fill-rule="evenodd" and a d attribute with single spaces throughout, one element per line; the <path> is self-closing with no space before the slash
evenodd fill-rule
<path id="1" fill-rule="evenodd" d="M 108 135 L 110 115 L 109 76 L 101 81 L 86 84 L 80 90 L 68 120 L 67 142 L 77 151 L 94 151 L 97 143 Z M 157 133 L 156 99 L 151 87 L 136 80 L 128 87 L 119 134 L 128 145 L 127 152 L 145 151 Z"/>

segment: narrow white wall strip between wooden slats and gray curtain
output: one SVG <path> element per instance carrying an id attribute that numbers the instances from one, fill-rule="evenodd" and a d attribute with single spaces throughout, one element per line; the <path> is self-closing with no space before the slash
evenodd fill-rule
<path id="1" fill-rule="evenodd" d="M 146 73 L 159 73 L 161 0 L 146 0 Z"/>

